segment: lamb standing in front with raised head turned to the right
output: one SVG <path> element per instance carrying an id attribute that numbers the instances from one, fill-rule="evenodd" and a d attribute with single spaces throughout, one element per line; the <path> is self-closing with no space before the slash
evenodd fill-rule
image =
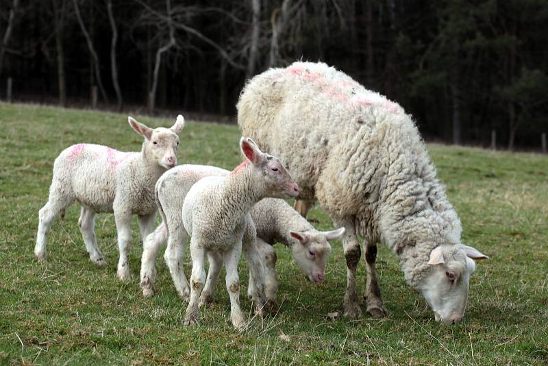
<path id="1" fill-rule="evenodd" d="M 264 197 L 289 198 L 299 194 L 297 184 L 277 158 L 260 151 L 251 138 L 242 138 L 240 148 L 247 158 L 245 162 L 225 177 L 202 178 L 190 188 L 184 199 L 183 225 L 191 236 L 192 258 L 185 324 L 195 323 L 199 317 L 199 297 L 206 283 L 206 254 L 216 251 L 221 252 L 226 265 L 230 320 L 237 330 L 245 328 L 239 303 L 238 262 L 242 240 L 247 241 L 245 249 L 255 247 L 256 231 L 249 210 Z M 264 269 L 259 254 L 253 254 L 253 258 L 255 260 L 249 263 L 249 267 L 256 284 L 258 311 L 261 312 L 265 303 Z"/>

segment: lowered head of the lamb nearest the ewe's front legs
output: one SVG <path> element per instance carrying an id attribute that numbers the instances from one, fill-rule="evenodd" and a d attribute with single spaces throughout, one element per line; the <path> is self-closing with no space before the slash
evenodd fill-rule
<path id="1" fill-rule="evenodd" d="M 306 278 L 310 282 L 323 282 L 325 267 L 331 253 L 329 241 L 343 236 L 345 228 L 323 232 L 316 230 L 306 232 L 290 231 L 289 234 L 292 238 L 297 239 L 291 245 L 291 252 L 293 259 L 301 267 Z"/>

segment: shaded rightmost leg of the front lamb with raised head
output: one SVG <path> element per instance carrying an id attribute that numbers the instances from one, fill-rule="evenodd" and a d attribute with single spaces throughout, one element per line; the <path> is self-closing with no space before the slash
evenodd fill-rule
<path id="1" fill-rule="evenodd" d="M 265 276 L 261 254 L 257 249 L 256 240 L 247 232 L 248 230 L 244 234 L 242 249 L 249 266 L 249 282 L 253 281 L 253 300 L 255 301 L 256 313 L 262 317 L 269 310 L 267 307 L 271 304 L 266 303 L 266 295 L 264 294 Z"/>

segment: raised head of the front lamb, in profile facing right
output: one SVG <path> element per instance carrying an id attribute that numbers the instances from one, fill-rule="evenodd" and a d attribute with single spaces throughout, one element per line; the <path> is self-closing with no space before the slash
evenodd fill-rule
<path id="1" fill-rule="evenodd" d="M 260 151 L 257 144 L 249 137 L 241 138 L 240 148 L 249 161 L 243 164 L 253 164 L 256 172 L 262 176 L 265 197 L 291 198 L 299 195 L 299 186 L 278 158 Z"/>

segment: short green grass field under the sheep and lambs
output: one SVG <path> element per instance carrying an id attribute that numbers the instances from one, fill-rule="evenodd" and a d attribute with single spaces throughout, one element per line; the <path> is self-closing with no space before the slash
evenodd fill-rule
<path id="1" fill-rule="evenodd" d="M 175 120 L 134 117 L 153 126 Z M 240 162 L 234 125 L 190 122 L 180 137 L 179 162 L 226 169 Z M 388 317 L 327 319 L 327 313 L 342 311 L 346 286 L 336 242 L 322 285 L 306 281 L 289 251 L 277 247 L 277 313 L 253 319 L 238 334 L 228 319 L 223 280 L 217 302 L 202 310 L 195 327 L 183 326 L 186 304 L 163 260 L 157 263 L 155 297 L 142 297 L 136 222 L 129 284 L 116 279 L 112 215 L 97 217 L 108 264 L 95 267 L 77 227 L 76 205 L 52 227 L 49 262 L 34 259 L 38 210 L 47 200 L 53 160 L 79 142 L 135 151 L 142 141 L 125 115 L 0 103 L 0 364 L 548 363 L 547 156 L 428 146 L 462 220 L 463 242 L 490 256 L 471 279 L 462 323 L 437 324 L 384 246 L 377 271 Z M 319 208 L 309 218 L 323 230 L 332 228 Z M 247 284 L 243 262 L 240 279 Z M 361 262 L 361 291 L 364 279 Z M 241 301 L 249 315 L 245 291 Z"/>

